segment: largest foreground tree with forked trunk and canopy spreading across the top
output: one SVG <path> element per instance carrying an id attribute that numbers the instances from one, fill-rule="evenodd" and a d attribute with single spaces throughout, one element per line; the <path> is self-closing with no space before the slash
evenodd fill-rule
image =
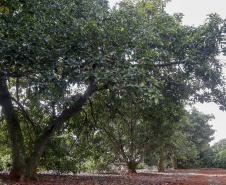
<path id="1" fill-rule="evenodd" d="M 123 1 L 110 10 L 105 0 L 1 1 L 0 105 L 12 148 L 10 178 L 37 179 L 48 140 L 96 92 L 151 103 L 160 97 L 158 85 L 170 81 L 172 94 L 177 84 L 188 94 L 206 88 L 220 96 L 215 56 L 224 22 L 211 15 L 198 28 L 182 26 L 164 5 Z"/>

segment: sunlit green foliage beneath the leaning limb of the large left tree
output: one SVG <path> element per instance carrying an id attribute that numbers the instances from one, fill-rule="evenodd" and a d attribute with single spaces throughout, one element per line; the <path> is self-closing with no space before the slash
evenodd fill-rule
<path id="1" fill-rule="evenodd" d="M 88 108 L 84 109 L 89 111 Z M 112 155 L 103 148 L 87 112 L 78 114 L 48 142 L 40 161 L 40 169 L 64 172 L 96 172 L 109 169 Z M 66 126 L 66 125 L 65 125 Z"/>

